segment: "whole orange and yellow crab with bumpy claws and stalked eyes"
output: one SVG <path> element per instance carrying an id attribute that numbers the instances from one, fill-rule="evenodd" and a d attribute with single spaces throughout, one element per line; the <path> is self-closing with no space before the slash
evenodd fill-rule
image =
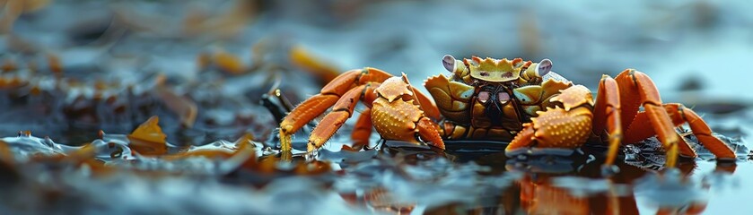
<path id="1" fill-rule="evenodd" d="M 372 126 L 383 139 L 442 149 L 444 140 L 510 142 L 508 157 L 572 153 L 586 142 L 604 142 L 609 144 L 604 165 L 611 167 L 621 145 L 656 135 L 666 165 L 674 167 L 679 155 L 696 157 L 675 129 L 687 123 L 717 159 L 736 159 L 700 116 L 681 104 L 663 103 L 649 76 L 634 69 L 615 78 L 602 75 L 594 99 L 588 88 L 552 72 L 548 59 L 447 55 L 442 64 L 451 76 L 435 75 L 424 83 L 433 99 L 410 85 L 405 74 L 392 77 L 368 67 L 343 73 L 285 116 L 282 150 L 291 150 L 292 133 L 334 105 L 309 137 L 308 150 L 319 149 L 362 100 L 366 110 L 355 123 L 355 142 L 368 142 Z"/>

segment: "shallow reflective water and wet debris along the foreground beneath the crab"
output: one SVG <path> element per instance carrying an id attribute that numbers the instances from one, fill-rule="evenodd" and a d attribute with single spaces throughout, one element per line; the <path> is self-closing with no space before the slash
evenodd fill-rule
<path id="1" fill-rule="evenodd" d="M 4 172 L 0 185 L 8 188 L 0 209 L 14 214 L 745 214 L 746 200 L 740 196 L 753 189 L 745 183 L 753 176 L 748 154 L 740 154 L 737 162 L 683 160 L 678 168 L 656 170 L 662 167 L 661 152 L 652 156 L 648 151 L 627 150 L 617 159 L 619 171 L 604 175 L 600 146 L 585 147 L 568 157 L 509 159 L 503 152 L 489 151 L 494 148 L 488 145 L 480 148 L 484 151 L 468 147 L 473 142 L 448 142 L 455 146 L 448 151 L 383 142 L 374 150 L 320 150 L 316 158 L 325 163 L 314 162 L 302 170 L 302 154 L 294 155 L 292 162 L 282 161 L 275 159 L 274 150 L 241 140 L 191 147 L 172 152 L 172 157 L 128 157 L 133 143 L 126 135 L 104 134 L 92 142 L 93 155 L 104 166 L 86 162 L 82 166 L 76 161 L 86 159 L 79 157 L 81 148 L 48 139 L 22 134 L 2 141 L 16 161 L 9 164 L 4 159 L 0 169 Z M 246 143 L 251 148 L 241 147 Z M 113 153 L 118 149 L 113 144 L 122 147 L 120 153 Z M 192 156 L 191 151 L 250 153 L 212 159 Z M 55 154 L 68 156 L 53 159 Z M 260 163 L 249 161 L 257 160 L 252 154 L 261 156 Z"/>

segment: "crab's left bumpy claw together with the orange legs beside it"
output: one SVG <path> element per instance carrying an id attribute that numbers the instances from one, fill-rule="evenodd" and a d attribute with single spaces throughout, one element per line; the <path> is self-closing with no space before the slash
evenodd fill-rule
<path id="1" fill-rule="evenodd" d="M 375 68 L 352 70 L 329 82 L 317 94 L 293 108 L 280 124 L 283 150 L 291 150 L 291 133 L 295 133 L 329 107 L 332 111 L 311 131 L 308 150 L 319 149 L 353 116 L 355 106 L 362 100 L 366 105 L 355 124 L 353 138 L 368 142 L 372 126 L 383 138 L 404 142 L 431 142 L 444 149 L 444 142 L 433 120 L 440 118 L 431 99 L 416 90 L 405 73 L 393 77 Z M 429 117 L 433 117 L 430 119 Z"/>

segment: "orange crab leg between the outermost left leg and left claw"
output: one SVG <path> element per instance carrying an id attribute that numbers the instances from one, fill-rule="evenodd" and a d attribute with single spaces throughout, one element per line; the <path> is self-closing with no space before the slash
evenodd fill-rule
<path id="1" fill-rule="evenodd" d="M 348 90 L 342 96 L 342 99 L 337 100 L 335 106 L 332 107 L 332 112 L 325 115 L 321 119 L 320 126 L 316 126 L 311 132 L 308 151 L 319 149 L 324 142 L 327 142 L 337 132 L 337 129 L 346 123 L 346 120 L 350 116 L 353 116 L 353 110 L 355 109 L 355 105 L 358 104 L 358 100 L 363 98 L 363 103 L 372 104 L 372 98 L 375 98 L 375 96 L 368 94 L 374 94 L 374 88 L 372 84 L 367 83 L 366 85 Z"/>

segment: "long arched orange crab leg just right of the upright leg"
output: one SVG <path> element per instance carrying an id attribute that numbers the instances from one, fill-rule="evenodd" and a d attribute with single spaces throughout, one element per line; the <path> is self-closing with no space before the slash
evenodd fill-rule
<path id="1" fill-rule="evenodd" d="M 623 108 L 623 126 L 631 128 L 633 119 L 638 114 L 638 106 L 643 106 L 645 114 L 651 122 L 653 131 L 667 150 L 667 167 L 674 167 L 677 163 L 679 135 L 674 131 L 670 115 L 661 106 L 659 90 L 645 73 L 627 69 L 615 78 L 620 90 L 620 104 Z M 637 93 L 636 93 L 637 92 Z M 648 127 L 634 127 L 633 129 L 650 129 Z M 628 132 L 630 129 L 628 129 Z M 628 133 L 626 132 L 626 133 Z M 627 136 L 626 136 L 627 137 Z"/>

